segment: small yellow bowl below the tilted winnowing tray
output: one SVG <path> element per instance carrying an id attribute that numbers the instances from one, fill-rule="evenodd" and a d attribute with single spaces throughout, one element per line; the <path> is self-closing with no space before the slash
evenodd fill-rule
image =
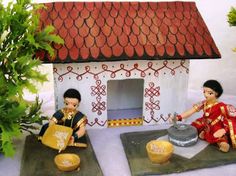
<path id="1" fill-rule="evenodd" d="M 61 171 L 73 171 L 80 165 L 80 157 L 72 153 L 58 154 L 54 162 Z"/>

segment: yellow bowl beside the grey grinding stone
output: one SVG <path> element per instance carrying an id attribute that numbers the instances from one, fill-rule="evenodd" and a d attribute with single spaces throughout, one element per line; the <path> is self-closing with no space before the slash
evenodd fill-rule
<path id="1" fill-rule="evenodd" d="M 169 161 L 174 146 L 168 141 L 152 140 L 146 145 L 148 158 L 155 164 L 164 164 Z"/>

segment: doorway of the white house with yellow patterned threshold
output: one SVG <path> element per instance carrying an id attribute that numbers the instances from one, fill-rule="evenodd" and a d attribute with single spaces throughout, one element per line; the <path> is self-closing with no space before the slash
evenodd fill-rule
<path id="1" fill-rule="evenodd" d="M 108 127 L 142 125 L 143 79 L 107 82 Z"/>

